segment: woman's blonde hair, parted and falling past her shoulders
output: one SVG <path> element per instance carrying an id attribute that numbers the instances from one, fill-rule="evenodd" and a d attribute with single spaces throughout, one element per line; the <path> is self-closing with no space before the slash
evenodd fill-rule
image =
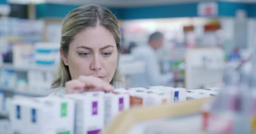
<path id="1" fill-rule="evenodd" d="M 121 53 L 121 33 L 117 18 L 107 8 L 90 4 L 81 6 L 69 12 L 62 23 L 60 49 L 64 56 L 67 56 L 69 52 L 69 44 L 74 39 L 74 36 L 85 28 L 95 27 L 97 23 L 107 28 L 115 37 L 118 59 L 115 74 L 110 84 L 116 86 L 116 82 L 122 82 L 118 67 L 119 55 Z M 71 80 L 69 67 L 64 64 L 62 59 L 60 59 L 60 64 L 55 79 L 51 84 L 51 88 L 64 87 L 65 83 L 69 80 Z"/>

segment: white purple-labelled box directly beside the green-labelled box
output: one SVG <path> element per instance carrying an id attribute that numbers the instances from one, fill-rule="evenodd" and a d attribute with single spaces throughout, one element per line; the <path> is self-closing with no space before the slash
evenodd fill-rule
<path id="1" fill-rule="evenodd" d="M 104 128 L 104 98 L 101 93 L 66 94 L 75 100 L 75 134 L 99 134 Z"/>

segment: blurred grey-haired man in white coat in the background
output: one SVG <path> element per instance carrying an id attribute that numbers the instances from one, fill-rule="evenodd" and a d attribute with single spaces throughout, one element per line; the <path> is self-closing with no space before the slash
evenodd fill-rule
<path id="1" fill-rule="evenodd" d="M 161 74 L 156 50 L 163 45 L 163 33 L 156 31 L 149 36 L 148 44 L 135 48 L 132 54 L 135 59 L 145 63 L 145 72 L 131 76 L 132 87 L 167 85 L 173 79 L 173 73 Z"/>

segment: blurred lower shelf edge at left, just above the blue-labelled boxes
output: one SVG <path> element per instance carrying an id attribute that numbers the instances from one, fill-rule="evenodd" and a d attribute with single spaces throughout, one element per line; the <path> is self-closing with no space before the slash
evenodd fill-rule
<path id="1" fill-rule="evenodd" d="M 0 87 L 0 90 L 6 91 L 6 92 L 11 92 L 17 95 L 25 95 L 25 96 L 32 96 L 32 97 L 40 97 L 40 96 L 48 96 L 48 93 L 35 93 L 31 91 L 21 91 L 21 90 L 14 90 L 11 88 L 5 88 L 5 87 Z"/>

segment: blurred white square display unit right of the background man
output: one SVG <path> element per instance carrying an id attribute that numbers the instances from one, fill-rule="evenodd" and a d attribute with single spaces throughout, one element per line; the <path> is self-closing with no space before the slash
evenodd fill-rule
<path id="1" fill-rule="evenodd" d="M 223 49 L 187 49 L 185 63 L 184 81 L 188 90 L 222 86 L 225 67 Z"/>

